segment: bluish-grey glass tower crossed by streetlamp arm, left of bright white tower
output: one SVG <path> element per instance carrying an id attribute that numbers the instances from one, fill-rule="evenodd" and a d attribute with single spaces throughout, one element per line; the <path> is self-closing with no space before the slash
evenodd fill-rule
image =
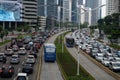
<path id="1" fill-rule="evenodd" d="M 100 0 L 86 0 L 85 6 L 90 7 L 91 9 L 97 8 L 100 4 Z M 97 20 L 101 16 L 100 9 L 96 9 L 92 11 L 91 25 L 95 25 Z"/>

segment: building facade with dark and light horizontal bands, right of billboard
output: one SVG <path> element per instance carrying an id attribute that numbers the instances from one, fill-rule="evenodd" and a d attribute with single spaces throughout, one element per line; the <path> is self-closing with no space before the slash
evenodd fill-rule
<path id="1" fill-rule="evenodd" d="M 37 0 L 21 0 L 21 3 L 23 4 L 23 21 L 30 22 L 30 25 L 35 27 L 37 23 Z"/>

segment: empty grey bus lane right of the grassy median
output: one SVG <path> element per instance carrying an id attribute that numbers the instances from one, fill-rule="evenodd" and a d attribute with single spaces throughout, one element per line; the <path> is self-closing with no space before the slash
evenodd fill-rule
<path id="1" fill-rule="evenodd" d="M 67 48 L 70 54 L 77 60 L 78 59 L 78 50 L 76 48 Z M 81 52 L 79 53 L 79 63 L 82 65 L 87 72 L 89 72 L 95 80 L 116 80 L 100 67 L 91 62 L 86 58 Z"/>

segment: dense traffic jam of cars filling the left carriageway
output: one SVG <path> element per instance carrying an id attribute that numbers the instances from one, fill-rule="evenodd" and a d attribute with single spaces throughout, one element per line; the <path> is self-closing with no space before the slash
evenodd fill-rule
<path id="1" fill-rule="evenodd" d="M 12 38 L 0 51 L 0 80 L 35 80 L 28 76 L 37 74 L 34 69 L 40 49 L 53 34 L 55 32 L 39 32 L 22 39 Z"/>

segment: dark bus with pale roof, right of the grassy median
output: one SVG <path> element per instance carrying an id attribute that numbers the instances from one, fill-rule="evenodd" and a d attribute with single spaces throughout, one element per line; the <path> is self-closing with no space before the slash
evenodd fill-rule
<path id="1" fill-rule="evenodd" d="M 65 42 L 67 47 L 74 47 L 75 46 L 75 40 L 73 36 L 71 35 L 66 35 L 65 36 Z"/>

